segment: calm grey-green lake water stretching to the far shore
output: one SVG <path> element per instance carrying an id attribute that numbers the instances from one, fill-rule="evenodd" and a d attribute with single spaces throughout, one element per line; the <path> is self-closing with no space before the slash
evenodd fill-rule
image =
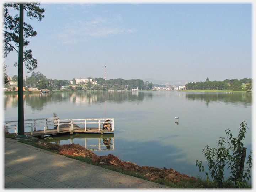
<path id="1" fill-rule="evenodd" d="M 139 166 L 173 168 L 205 177 L 196 166 L 197 159 L 206 162 L 202 149 L 206 145 L 217 148 L 219 137 L 226 137 L 228 128 L 237 137 L 242 121 L 249 128 L 244 142 L 247 156 L 252 150 L 251 93 L 53 92 L 25 94 L 24 102 L 25 119 L 53 117 L 54 112 L 60 119 L 114 118 L 114 134 L 106 136 L 114 147 L 101 146 L 94 153 L 111 153 Z M 17 95 L 4 95 L 4 121 L 17 120 L 17 103 Z M 53 142 L 83 146 L 103 142 L 100 135 L 86 137 L 71 135 Z"/>

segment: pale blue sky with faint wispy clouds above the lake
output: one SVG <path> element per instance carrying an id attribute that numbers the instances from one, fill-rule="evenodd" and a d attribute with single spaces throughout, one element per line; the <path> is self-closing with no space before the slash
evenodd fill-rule
<path id="1" fill-rule="evenodd" d="M 42 0 L 42 21 L 24 19 L 37 31 L 25 48 L 37 59 L 33 71 L 58 80 L 104 78 L 106 64 L 107 79 L 253 78 L 252 1 L 159 2 Z M 17 75 L 18 54 L 4 61 L 7 75 Z M 24 78 L 31 73 L 25 69 Z"/>

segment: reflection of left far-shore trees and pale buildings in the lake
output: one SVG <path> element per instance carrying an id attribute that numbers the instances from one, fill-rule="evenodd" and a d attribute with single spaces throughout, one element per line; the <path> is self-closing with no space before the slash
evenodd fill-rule
<path id="1" fill-rule="evenodd" d="M 24 103 L 32 110 L 42 110 L 48 103 L 62 103 L 70 101 L 75 104 L 91 104 L 94 102 L 105 103 L 124 101 L 142 102 L 144 98 L 152 98 L 152 93 L 144 92 L 116 92 L 116 91 L 73 91 L 73 92 L 53 92 L 48 94 L 24 94 Z M 18 97 L 15 95 L 4 95 L 4 108 L 17 106 Z"/>

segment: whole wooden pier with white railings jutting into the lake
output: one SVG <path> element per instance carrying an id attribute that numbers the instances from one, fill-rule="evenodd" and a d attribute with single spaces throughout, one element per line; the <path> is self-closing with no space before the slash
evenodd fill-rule
<path id="1" fill-rule="evenodd" d="M 109 120 L 111 130 L 103 130 L 103 123 Z M 46 135 L 58 135 L 63 133 L 113 133 L 114 119 L 63 119 L 54 113 L 52 118 L 26 119 L 24 120 L 24 134 L 34 137 L 44 137 Z M 95 126 L 95 124 L 97 126 Z M 79 126 L 78 126 L 79 125 Z M 6 132 L 15 129 L 18 134 L 18 121 L 6 121 L 4 124 Z"/>

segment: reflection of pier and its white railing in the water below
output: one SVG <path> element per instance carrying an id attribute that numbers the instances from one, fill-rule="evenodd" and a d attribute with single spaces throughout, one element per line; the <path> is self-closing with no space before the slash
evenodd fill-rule
<path id="1" fill-rule="evenodd" d="M 77 135 L 63 135 L 61 137 L 54 137 L 50 141 L 52 143 L 56 143 L 61 145 L 61 141 L 69 140 L 70 144 L 74 143 L 74 140 L 79 139 L 79 145 L 83 146 L 86 149 L 90 149 L 91 151 L 106 151 L 106 150 L 114 150 L 114 134 L 77 134 Z M 84 139 L 84 144 L 81 144 L 81 141 Z M 87 144 L 89 141 L 90 144 Z M 75 142 L 75 144 L 78 142 Z M 104 149 L 106 147 L 106 149 Z"/>

